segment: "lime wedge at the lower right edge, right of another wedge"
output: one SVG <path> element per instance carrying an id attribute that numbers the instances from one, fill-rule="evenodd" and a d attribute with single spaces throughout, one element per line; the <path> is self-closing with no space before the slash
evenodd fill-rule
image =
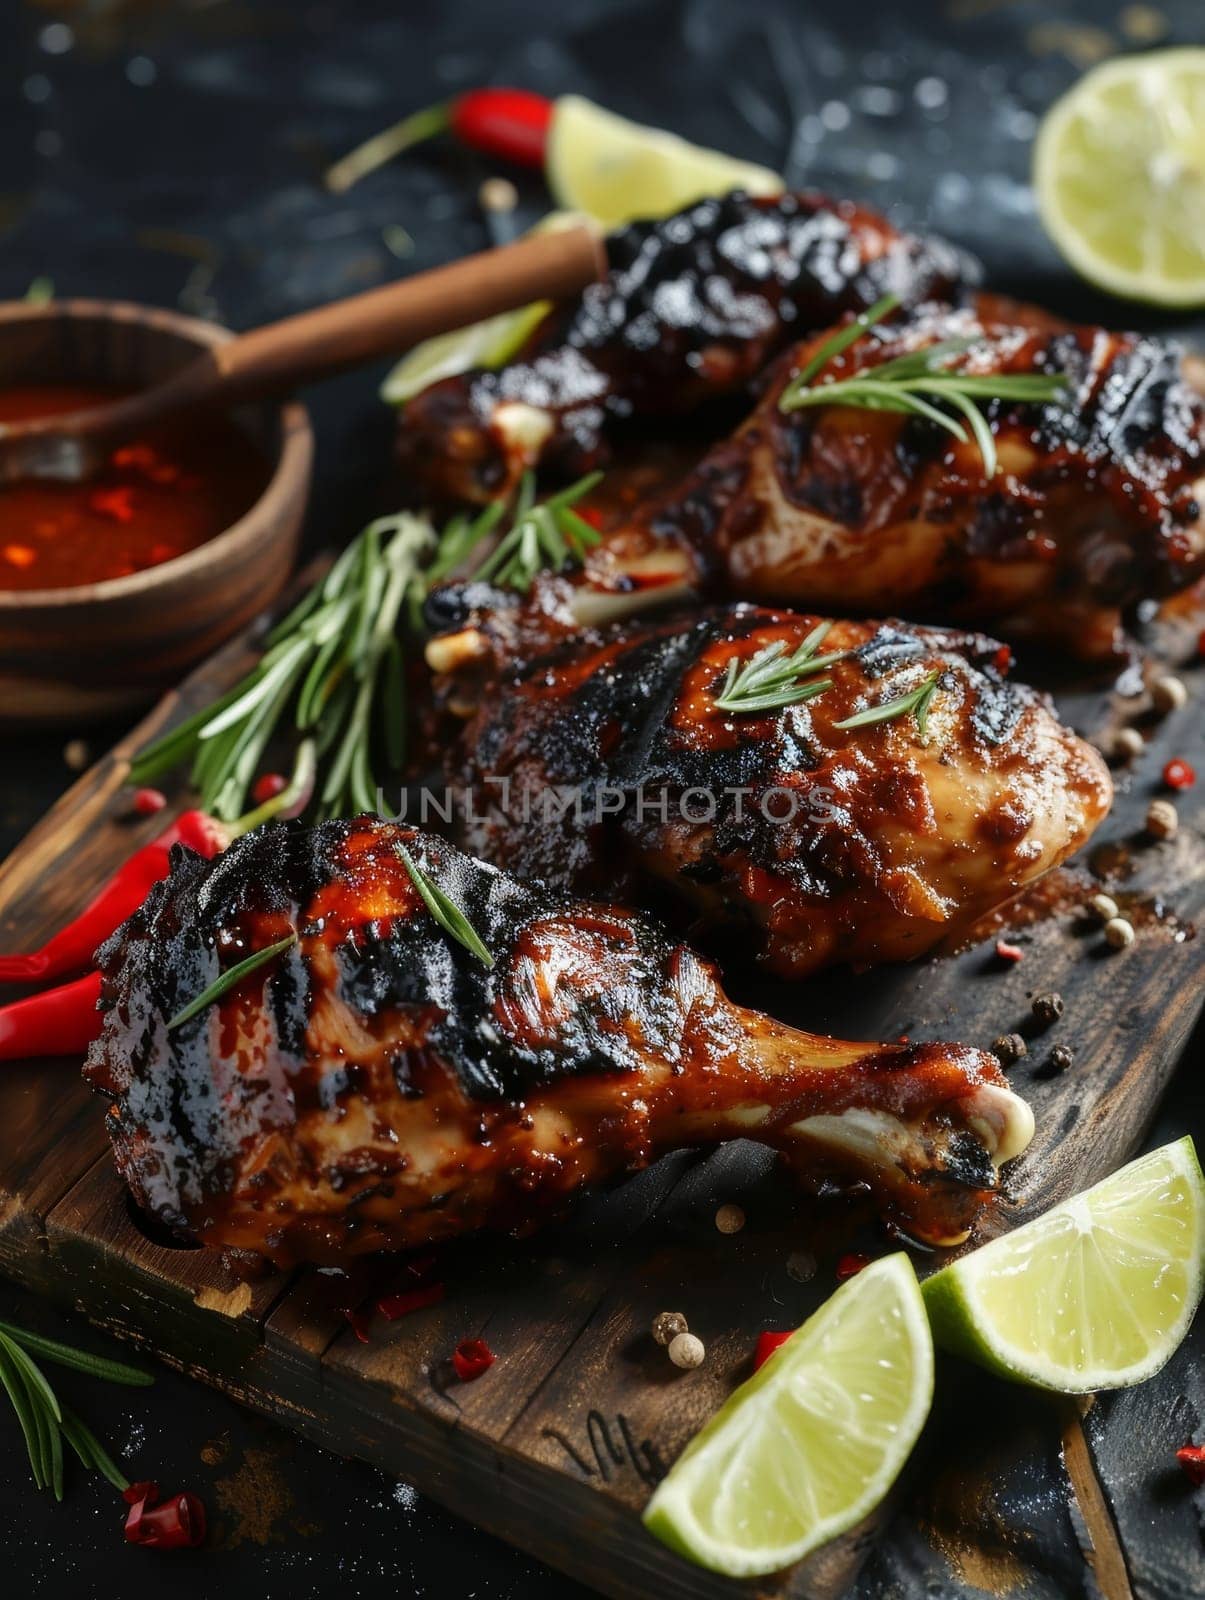
<path id="1" fill-rule="evenodd" d="M 944 1267 L 925 1306 L 959 1355 L 1085 1394 L 1157 1373 L 1203 1285 L 1205 1181 L 1181 1139 Z"/>

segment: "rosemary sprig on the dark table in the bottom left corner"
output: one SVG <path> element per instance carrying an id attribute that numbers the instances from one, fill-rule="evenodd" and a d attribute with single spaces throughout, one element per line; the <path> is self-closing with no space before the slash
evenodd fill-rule
<path id="1" fill-rule="evenodd" d="M 54 1499 L 62 1499 L 64 1438 L 85 1467 L 101 1472 L 118 1490 L 128 1488 L 128 1478 L 91 1429 L 59 1402 L 34 1355 L 114 1384 L 152 1384 L 150 1373 L 126 1366 L 125 1362 L 88 1355 L 69 1344 L 59 1344 L 58 1339 L 43 1339 L 10 1322 L 0 1323 L 0 1387 L 6 1392 L 21 1424 L 37 1488 L 50 1488 Z"/>

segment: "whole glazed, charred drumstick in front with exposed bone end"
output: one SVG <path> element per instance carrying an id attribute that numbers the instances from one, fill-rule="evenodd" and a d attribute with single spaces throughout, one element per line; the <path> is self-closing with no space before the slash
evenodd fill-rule
<path id="1" fill-rule="evenodd" d="M 443 933 L 398 845 L 491 968 Z M 101 973 L 85 1075 L 134 1198 L 282 1267 L 530 1227 L 584 1184 L 735 1136 L 810 1182 L 864 1181 L 901 1226 L 952 1240 L 1032 1136 L 983 1051 L 784 1027 L 650 920 L 370 818 L 270 826 L 211 862 L 178 848 Z"/>

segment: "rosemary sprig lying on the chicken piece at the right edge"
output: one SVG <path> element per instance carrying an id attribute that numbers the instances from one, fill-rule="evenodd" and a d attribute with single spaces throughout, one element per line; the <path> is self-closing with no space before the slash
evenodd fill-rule
<path id="1" fill-rule="evenodd" d="M 920 416 L 943 427 L 963 445 L 973 437 L 979 446 L 984 474 L 994 478 L 999 467 L 995 437 L 979 402 L 1018 400 L 1026 405 L 1050 405 L 1066 387 L 1059 374 L 951 371 L 947 365 L 951 357 L 981 342 L 976 338 L 959 338 L 941 339 L 928 349 L 896 355 L 893 360 L 864 368 L 851 378 L 813 382 L 829 362 L 861 339 L 869 328 L 882 322 L 898 306 L 898 294 L 885 294 L 867 312 L 826 339 L 807 366 L 783 390 L 778 402 L 779 411 L 800 411 L 803 406 L 816 405 L 848 405 L 864 411 L 898 411 L 904 416 Z M 957 416 L 951 416 L 951 411 Z"/>

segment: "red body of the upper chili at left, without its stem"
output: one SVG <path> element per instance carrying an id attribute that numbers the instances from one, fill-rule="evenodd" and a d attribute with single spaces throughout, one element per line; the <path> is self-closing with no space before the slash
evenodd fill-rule
<path id="1" fill-rule="evenodd" d="M 157 838 L 136 850 L 80 915 L 40 950 L 30 955 L 0 955 L 0 984 L 29 984 L 90 966 L 96 947 L 138 910 L 152 885 L 168 875 L 168 853 L 173 845 L 187 845 L 208 859 L 224 848 L 226 837 L 221 824 L 211 816 L 203 811 L 184 811 Z"/>

